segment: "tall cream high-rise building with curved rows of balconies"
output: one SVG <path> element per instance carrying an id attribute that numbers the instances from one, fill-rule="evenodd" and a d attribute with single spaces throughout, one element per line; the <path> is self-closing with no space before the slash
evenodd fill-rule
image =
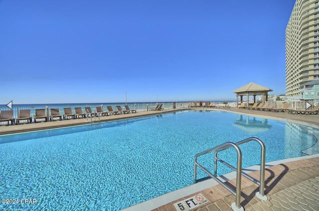
<path id="1" fill-rule="evenodd" d="M 319 99 L 319 0 L 296 0 L 286 28 L 286 97 Z"/>

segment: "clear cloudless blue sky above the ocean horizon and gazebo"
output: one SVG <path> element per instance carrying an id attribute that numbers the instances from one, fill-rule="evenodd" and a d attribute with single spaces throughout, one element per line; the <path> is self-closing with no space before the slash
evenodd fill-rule
<path id="1" fill-rule="evenodd" d="M 295 0 L 0 0 L 0 104 L 285 94 Z"/>

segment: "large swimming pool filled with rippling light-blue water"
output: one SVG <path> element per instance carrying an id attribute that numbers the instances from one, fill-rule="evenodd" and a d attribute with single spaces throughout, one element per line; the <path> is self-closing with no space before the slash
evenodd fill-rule
<path id="1" fill-rule="evenodd" d="M 191 185 L 196 153 L 250 136 L 265 143 L 266 162 L 319 152 L 314 128 L 224 111 L 180 111 L 0 136 L 0 196 L 36 200 L 1 204 L 0 210 L 121 210 Z M 240 148 L 243 167 L 258 164 L 258 144 Z M 251 153 L 255 148 L 257 155 Z M 227 157 L 236 162 L 236 156 Z M 209 161 L 208 156 L 200 160 L 212 168 Z"/>

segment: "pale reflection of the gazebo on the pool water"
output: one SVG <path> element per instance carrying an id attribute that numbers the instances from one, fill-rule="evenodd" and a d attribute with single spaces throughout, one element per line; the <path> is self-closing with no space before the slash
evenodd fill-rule
<path id="1" fill-rule="evenodd" d="M 268 119 L 258 119 L 253 116 L 237 114 L 236 122 L 233 125 L 248 133 L 264 132 L 272 128 L 272 125 L 268 124 Z"/>

